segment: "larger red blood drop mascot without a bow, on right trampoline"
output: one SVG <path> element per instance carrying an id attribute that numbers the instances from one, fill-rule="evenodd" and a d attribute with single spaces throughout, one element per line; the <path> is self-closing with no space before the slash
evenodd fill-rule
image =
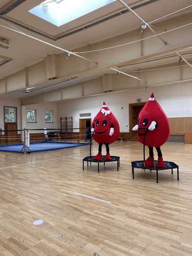
<path id="1" fill-rule="evenodd" d="M 139 113 L 138 124 L 133 127 L 133 131 L 138 131 L 137 137 L 142 144 L 146 134 L 145 145 L 148 146 L 150 156 L 145 160 L 145 166 L 154 167 L 153 147 L 155 146 L 158 153 L 156 167 L 166 167 L 163 162 L 160 146 L 168 139 L 170 127 L 168 119 L 153 93 Z"/>

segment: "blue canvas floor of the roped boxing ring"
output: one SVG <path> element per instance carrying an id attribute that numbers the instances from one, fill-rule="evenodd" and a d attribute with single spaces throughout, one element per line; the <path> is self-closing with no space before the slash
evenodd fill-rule
<path id="1" fill-rule="evenodd" d="M 33 142 L 33 143 L 30 143 L 29 150 L 26 150 L 26 153 L 60 150 L 61 148 L 84 146 L 84 145 L 90 145 L 90 144 L 89 143 L 73 143 L 73 142 L 54 142 L 54 141 Z M 24 144 L 1 145 L 0 151 L 22 153 L 21 151 L 23 146 Z"/>

